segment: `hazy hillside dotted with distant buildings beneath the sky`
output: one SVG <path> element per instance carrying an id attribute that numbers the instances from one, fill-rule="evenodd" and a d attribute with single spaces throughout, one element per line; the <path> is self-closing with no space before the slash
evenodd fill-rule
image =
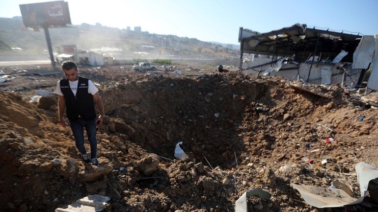
<path id="1" fill-rule="evenodd" d="M 0 28 L 0 43 L 4 43 L 2 46 L 22 48 L 22 52 L 18 53 L 44 53 L 47 49 L 43 29 L 35 32 L 25 28 L 21 17 L 0 18 Z M 81 50 L 101 49 L 102 47 L 118 48 L 116 54 L 110 52 L 116 57 L 135 56 L 133 52 L 148 52 L 151 55 L 160 56 L 196 57 L 223 57 L 223 55 L 228 57 L 237 54 L 235 50 L 227 46 L 222 47 L 220 44 L 203 42 L 195 38 L 135 32 L 101 24 L 50 28 L 49 31 L 53 51 L 59 51 L 62 45 L 76 45 Z M 3 48 L 0 51 L 2 51 L 2 55 L 15 53 L 14 51 L 4 51 Z M 99 53 L 109 52 L 103 50 Z"/>

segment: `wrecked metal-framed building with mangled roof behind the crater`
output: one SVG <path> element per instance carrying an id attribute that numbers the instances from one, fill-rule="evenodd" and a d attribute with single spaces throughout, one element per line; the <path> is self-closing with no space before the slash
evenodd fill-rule
<path id="1" fill-rule="evenodd" d="M 241 27 L 240 67 L 248 74 L 282 76 L 314 84 L 341 83 L 359 88 L 373 62 L 376 40 L 360 33 L 308 28 L 306 24 L 267 33 Z M 252 56 L 243 61 L 244 53 L 270 56 L 265 60 L 254 60 Z M 377 90 L 374 85 L 377 77 L 373 72 L 368 87 Z"/>

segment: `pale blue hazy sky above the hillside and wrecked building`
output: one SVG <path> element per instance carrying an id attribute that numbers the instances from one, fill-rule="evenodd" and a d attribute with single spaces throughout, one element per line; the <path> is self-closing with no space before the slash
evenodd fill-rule
<path id="1" fill-rule="evenodd" d="M 0 17 L 21 16 L 19 4 L 0 0 Z M 378 34 L 378 0 L 65 0 L 71 22 L 238 44 L 239 28 L 270 32 L 294 24 Z"/>

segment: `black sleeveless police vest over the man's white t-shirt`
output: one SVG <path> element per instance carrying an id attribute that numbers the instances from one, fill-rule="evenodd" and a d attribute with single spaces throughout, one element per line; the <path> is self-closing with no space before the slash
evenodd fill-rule
<path id="1" fill-rule="evenodd" d="M 71 91 L 68 79 L 64 78 L 60 80 L 60 91 L 64 95 L 67 118 L 70 121 L 78 120 L 79 115 L 84 120 L 96 118 L 93 96 L 92 94 L 88 94 L 88 80 L 79 76 L 76 97 Z"/>

